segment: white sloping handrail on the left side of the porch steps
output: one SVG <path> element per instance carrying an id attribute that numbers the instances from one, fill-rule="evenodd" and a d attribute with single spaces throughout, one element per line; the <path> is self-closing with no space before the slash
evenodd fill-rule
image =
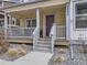
<path id="1" fill-rule="evenodd" d="M 33 51 L 35 48 L 35 45 L 37 44 L 39 37 L 40 37 L 40 28 L 36 26 L 34 32 L 33 32 Z"/>

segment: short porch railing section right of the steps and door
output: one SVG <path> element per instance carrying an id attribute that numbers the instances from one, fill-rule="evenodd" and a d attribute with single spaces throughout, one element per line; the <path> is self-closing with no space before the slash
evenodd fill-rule
<path id="1" fill-rule="evenodd" d="M 56 36 L 57 39 L 65 39 L 66 37 L 66 28 L 65 25 L 57 25 L 56 28 Z"/>

